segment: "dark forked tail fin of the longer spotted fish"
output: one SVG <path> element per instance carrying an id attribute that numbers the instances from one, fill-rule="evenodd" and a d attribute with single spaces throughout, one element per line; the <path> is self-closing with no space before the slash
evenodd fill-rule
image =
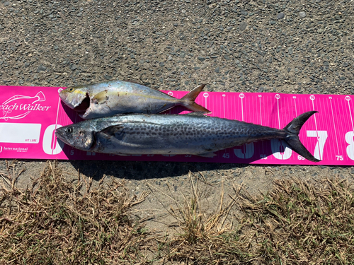
<path id="1" fill-rule="evenodd" d="M 292 122 L 287 124 L 284 130 L 287 132 L 287 135 L 285 136 L 285 141 L 292 148 L 292 150 L 294 150 L 299 155 L 302 155 L 307 160 L 310 160 L 312 162 L 319 162 L 321 160 L 318 160 L 314 157 L 314 155 L 309 153 L 309 151 L 306 149 L 306 147 L 304 147 L 304 145 L 300 142 L 299 139 L 299 131 L 302 125 L 304 125 L 304 123 L 307 122 L 307 119 L 309 119 L 309 117 L 311 117 L 315 113 L 316 111 L 302 113 L 301 115 L 293 119 Z"/>

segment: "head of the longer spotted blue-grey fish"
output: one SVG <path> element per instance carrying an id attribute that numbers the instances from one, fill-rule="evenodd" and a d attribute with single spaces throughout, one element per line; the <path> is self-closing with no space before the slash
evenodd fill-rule
<path id="1" fill-rule="evenodd" d="M 69 146 L 89 151 L 94 146 L 95 136 L 93 129 L 82 124 L 82 122 L 79 122 L 78 124 L 62 126 L 55 130 L 55 136 Z"/>

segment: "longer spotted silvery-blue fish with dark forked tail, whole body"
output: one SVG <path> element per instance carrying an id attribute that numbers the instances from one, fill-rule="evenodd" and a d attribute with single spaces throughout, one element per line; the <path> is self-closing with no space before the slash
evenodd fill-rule
<path id="1" fill-rule="evenodd" d="M 299 130 L 316 112 L 299 115 L 284 129 L 205 117 L 200 114 L 130 114 L 91 119 L 62 126 L 56 136 L 83 151 L 132 154 L 190 154 L 212 157 L 213 152 L 266 139 L 284 139 L 310 161 L 319 160 L 299 141 Z"/>

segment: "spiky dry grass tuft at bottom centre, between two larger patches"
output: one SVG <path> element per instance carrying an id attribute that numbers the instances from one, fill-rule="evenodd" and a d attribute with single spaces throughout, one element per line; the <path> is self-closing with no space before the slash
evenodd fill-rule
<path id="1" fill-rule="evenodd" d="M 232 230 L 232 218 L 229 218 L 236 200 L 228 200 L 225 204 L 222 189 L 219 207 L 207 214 L 209 206 L 202 203 L 198 177 L 189 173 L 189 179 L 190 196 L 184 197 L 184 204 L 170 197 L 175 206 L 166 208 L 177 221 L 178 232 L 164 242 L 164 259 L 184 264 L 240 264 L 250 260 L 249 255 L 243 251 L 243 242 L 239 241 L 238 232 Z"/>

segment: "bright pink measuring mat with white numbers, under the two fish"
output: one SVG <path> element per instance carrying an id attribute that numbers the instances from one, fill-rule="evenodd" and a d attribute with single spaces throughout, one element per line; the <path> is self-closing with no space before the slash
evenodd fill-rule
<path id="1" fill-rule="evenodd" d="M 79 122 L 63 105 L 64 88 L 0 86 L 0 158 L 62 160 L 144 160 L 287 165 L 354 165 L 353 95 L 290 95 L 280 93 L 202 92 L 196 102 L 211 116 L 238 119 L 282 129 L 303 112 L 319 113 L 307 121 L 300 140 L 319 163 L 312 163 L 287 148 L 283 141 L 259 141 L 217 152 L 214 158 L 195 155 L 119 156 L 79 151 L 58 142 L 55 129 Z M 188 91 L 164 91 L 182 98 Z M 188 113 L 175 107 L 166 113 Z"/>

